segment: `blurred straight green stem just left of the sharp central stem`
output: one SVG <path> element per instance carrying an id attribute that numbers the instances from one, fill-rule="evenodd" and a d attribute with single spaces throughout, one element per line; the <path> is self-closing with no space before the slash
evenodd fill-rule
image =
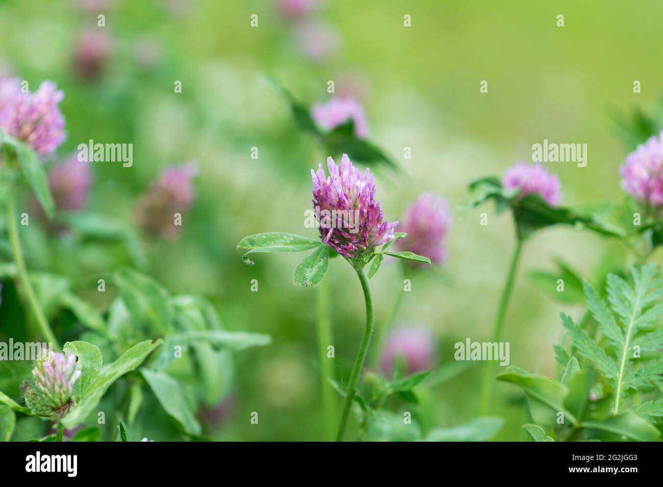
<path id="1" fill-rule="evenodd" d="M 331 345 L 330 297 L 327 281 L 318 284 L 316 290 L 318 308 L 318 356 L 320 357 L 320 393 L 322 394 L 322 413 L 325 440 L 333 441 L 333 427 L 336 420 L 336 402 L 329 378 L 334 377 L 333 360 L 327 356 L 327 347 Z"/>

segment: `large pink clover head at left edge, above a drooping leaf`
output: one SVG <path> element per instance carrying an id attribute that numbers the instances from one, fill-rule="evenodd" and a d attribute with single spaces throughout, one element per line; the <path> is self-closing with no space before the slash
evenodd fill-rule
<path id="1" fill-rule="evenodd" d="M 58 107 L 63 97 L 52 81 L 42 81 L 34 93 L 13 93 L 0 112 L 0 129 L 27 142 L 39 155 L 53 152 L 66 136 Z"/>

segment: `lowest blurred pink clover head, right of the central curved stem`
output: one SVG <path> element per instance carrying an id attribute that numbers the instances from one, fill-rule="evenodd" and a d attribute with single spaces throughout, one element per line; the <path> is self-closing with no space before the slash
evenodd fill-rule
<path id="1" fill-rule="evenodd" d="M 428 328 L 408 326 L 389 333 L 380 366 L 387 375 L 394 370 L 396 356 L 402 356 L 407 374 L 433 366 L 434 341 Z"/>

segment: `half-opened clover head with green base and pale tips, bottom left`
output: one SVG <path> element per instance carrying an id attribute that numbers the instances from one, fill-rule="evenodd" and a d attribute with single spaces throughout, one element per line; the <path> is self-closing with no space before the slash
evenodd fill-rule
<path id="1" fill-rule="evenodd" d="M 44 352 L 34 362 L 32 380 L 21 385 L 25 404 L 36 415 L 62 419 L 74 406 L 74 383 L 81 376 L 76 356 Z"/>

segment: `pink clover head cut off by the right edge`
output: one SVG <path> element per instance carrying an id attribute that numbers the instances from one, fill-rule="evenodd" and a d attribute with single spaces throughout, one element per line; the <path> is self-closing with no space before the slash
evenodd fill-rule
<path id="1" fill-rule="evenodd" d="M 663 131 L 650 137 L 621 166 L 622 187 L 652 207 L 663 205 Z"/>

